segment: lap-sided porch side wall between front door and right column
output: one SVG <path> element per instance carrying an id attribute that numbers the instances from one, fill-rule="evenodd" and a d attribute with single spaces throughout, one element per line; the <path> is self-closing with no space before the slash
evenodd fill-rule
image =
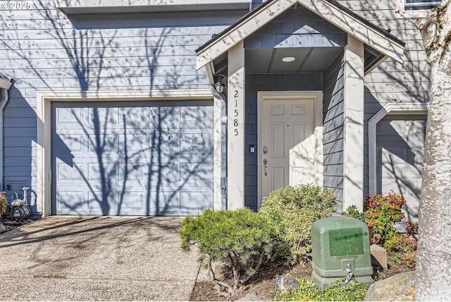
<path id="1" fill-rule="evenodd" d="M 343 153 L 344 153 L 344 59 L 337 57 L 324 73 L 323 98 L 323 186 L 332 190 L 343 200 Z"/>

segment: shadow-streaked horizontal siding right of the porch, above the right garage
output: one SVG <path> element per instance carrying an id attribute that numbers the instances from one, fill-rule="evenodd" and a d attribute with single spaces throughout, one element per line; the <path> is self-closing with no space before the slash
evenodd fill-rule
<path id="1" fill-rule="evenodd" d="M 371 2 L 339 0 L 339 2 L 381 28 L 390 29 L 391 34 L 406 42 L 402 64 L 388 59 L 365 76 L 365 121 L 368 121 L 385 104 L 428 102 L 431 69 L 426 63 L 421 34 L 395 13 L 399 9 L 395 2 L 391 0 Z M 413 15 L 412 20 L 416 17 L 421 20 L 424 16 L 424 12 L 417 13 Z M 367 123 L 364 126 L 364 143 L 364 196 L 367 196 L 369 194 Z"/>

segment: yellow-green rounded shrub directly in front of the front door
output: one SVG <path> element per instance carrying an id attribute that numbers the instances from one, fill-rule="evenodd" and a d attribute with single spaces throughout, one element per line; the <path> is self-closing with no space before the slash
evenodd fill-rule
<path id="1" fill-rule="evenodd" d="M 260 213 L 278 227 L 283 245 L 277 255 L 291 263 L 311 255 L 311 224 L 332 215 L 336 196 L 319 186 L 286 186 L 264 198 Z"/>

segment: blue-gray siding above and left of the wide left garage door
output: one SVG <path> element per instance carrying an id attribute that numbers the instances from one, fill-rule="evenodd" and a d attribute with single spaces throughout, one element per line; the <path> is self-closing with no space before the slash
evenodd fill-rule
<path id="1" fill-rule="evenodd" d="M 209 88 L 195 49 L 246 13 L 104 13 L 68 18 L 54 1 L 0 14 L 0 70 L 14 79 L 4 111 L 4 182 L 30 186 L 37 210 L 37 91 Z M 126 97 L 126 96 L 124 96 Z M 21 198 L 21 197 L 20 197 Z"/>

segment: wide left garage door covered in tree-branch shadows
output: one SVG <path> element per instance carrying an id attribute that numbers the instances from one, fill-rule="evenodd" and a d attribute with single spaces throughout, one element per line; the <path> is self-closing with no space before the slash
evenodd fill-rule
<path id="1" fill-rule="evenodd" d="M 53 214 L 194 215 L 212 207 L 211 105 L 53 102 Z"/>

